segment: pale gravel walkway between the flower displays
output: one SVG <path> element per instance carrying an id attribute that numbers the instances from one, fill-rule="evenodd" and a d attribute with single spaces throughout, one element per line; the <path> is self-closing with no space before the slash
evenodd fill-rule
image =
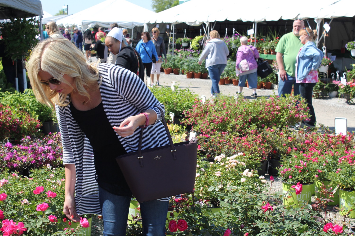
<path id="1" fill-rule="evenodd" d="M 154 82 L 157 80 L 156 75 Z M 146 80 L 145 80 L 146 81 Z M 211 80 L 210 79 L 187 79 L 186 75 L 165 75 L 160 74 L 160 85 L 171 86 L 171 81 L 175 81 L 179 88 L 189 88 L 194 93 L 206 96 L 206 99 L 211 97 Z M 219 90 L 221 93 L 233 96 L 238 91 L 238 86 L 233 84 L 220 85 Z M 252 90 L 244 88 L 244 96 L 246 98 L 255 99 L 250 97 Z M 277 90 L 257 90 L 258 96 L 277 95 Z M 317 123 L 322 123 L 329 128 L 334 128 L 335 117 L 345 117 L 348 122 L 348 131 L 355 131 L 355 104 L 347 104 L 345 98 L 313 98 L 313 107 L 315 109 Z"/>

